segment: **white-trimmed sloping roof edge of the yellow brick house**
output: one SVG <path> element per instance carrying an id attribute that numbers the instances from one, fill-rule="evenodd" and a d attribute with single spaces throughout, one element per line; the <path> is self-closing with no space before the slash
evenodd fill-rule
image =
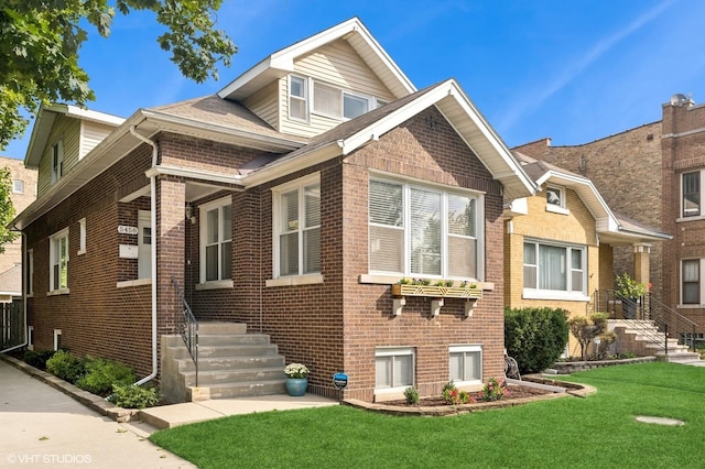
<path id="1" fill-rule="evenodd" d="M 622 215 L 615 214 L 599 194 L 590 179 L 579 174 L 563 170 L 545 161 L 535 160 L 520 152 L 514 152 L 524 171 L 539 187 L 544 183 L 554 183 L 570 187 L 581 197 L 585 207 L 596 221 L 600 241 L 609 244 L 627 244 L 634 242 L 665 241 L 673 237 L 639 223 Z"/>

